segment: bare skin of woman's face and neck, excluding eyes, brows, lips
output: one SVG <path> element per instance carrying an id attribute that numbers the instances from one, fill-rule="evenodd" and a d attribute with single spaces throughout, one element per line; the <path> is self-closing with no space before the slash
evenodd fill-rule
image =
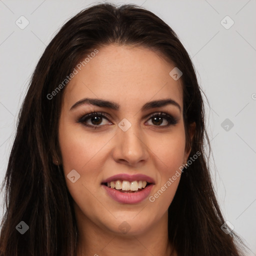
<path id="1" fill-rule="evenodd" d="M 146 198 L 136 204 L 113 200 L 101 182 L 118 173 L 145 174 L 155 180 L 151 196 L 186 163 L 190 148 L 185 148 L 181 79 L 170 77 L 174 65 L 148 48 L 110 44 L 98 50 L 66 85 L 59 119 L 61 164 L 78 226 L 77 256 L 169 256 L 167 209 L 180 176 L 154 202 Z M 119 109 L 88 103 L 70 109 L 85 97 L 113 101 Z M 167 104 L 141 110 L 148 101 L 166 98 L 180 109 Z M 93 111 L 107 118 L 77 122 Z M 177 123 L 150 118 L 157 112 L 170 114 Z M 123 118 L 131 123 L 127 131 L 118 127 Z M 193 131 L 191 126 L 191 137 Z M 73 169 L 80 174 L 74 183 L 67 178 Z M 123 221 L 126 233 L 119 229 Z"/>

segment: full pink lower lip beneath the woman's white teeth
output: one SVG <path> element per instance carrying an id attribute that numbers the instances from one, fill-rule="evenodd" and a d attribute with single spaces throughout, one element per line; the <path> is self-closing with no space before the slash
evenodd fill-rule
<path id="1" fill-rule="evenodd" d="M 114 188 L 102 185 L 107 194 L 114 199 L 117 202 L 121 202 L 121 203 L 139 203 L 141 201 L 143 201 L 150 193 L 153 184 L 147 185 L 145 188 L 143 188 L 141 191 L 139 192 L 129 192 L 129 193 L 125 193 L 125 192 L 120 192 L 119 190 L 116 190 Z"/>

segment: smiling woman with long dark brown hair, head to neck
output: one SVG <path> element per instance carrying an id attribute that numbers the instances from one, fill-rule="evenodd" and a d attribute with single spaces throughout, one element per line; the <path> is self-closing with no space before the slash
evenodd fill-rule
<path id="1" fill-rule="evenodd" d="M 79 12 L 46 47 L 19 114 L 1 254 L 242 255 L 221 229 L 204 139 L 173 30 L 136 5 Z"/>

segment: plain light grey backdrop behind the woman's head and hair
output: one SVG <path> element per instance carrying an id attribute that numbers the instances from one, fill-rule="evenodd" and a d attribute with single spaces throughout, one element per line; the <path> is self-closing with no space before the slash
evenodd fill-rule
<path id="1" fill-rule="evenodd" d="M 0 0 L 0 181 L 17 114 L 40 55 L 65 21 L 99 2 Z M 244 238 L 250 255 L 256 255 L 256 1 L 109 2 L 135 3 L 154 12 L 187 49 L 209 101 L 205 106 L 210 163 L 222 212 Z M 25 22 L 29 23 L 21 29 Z"/>

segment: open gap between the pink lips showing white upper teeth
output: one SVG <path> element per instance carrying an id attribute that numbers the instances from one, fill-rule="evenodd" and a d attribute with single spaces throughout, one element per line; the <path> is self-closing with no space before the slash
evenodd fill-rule
<path id="1" fill-rule="evenodd" d="M 142 191 L 145 187 L 152 184 L 152 182 L 147 182 L 145 180 L 112 180 L 110 182 L 103 182 L 102 185 L 110 187 L 115 190 L 119 190 L 123 193 L 136 193 Z"/>

